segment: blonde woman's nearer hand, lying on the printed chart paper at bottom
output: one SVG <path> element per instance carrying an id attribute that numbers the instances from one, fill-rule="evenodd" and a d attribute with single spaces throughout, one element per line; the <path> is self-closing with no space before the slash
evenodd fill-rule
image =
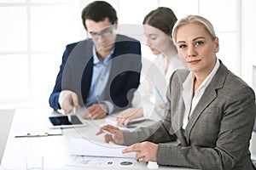
<path id="1" fill-rule="evenodd" d="M 156 153 L 158 150 L 158 144 L 154 144 L 151 142 L 143 142 L 138 144 L 132 144 L 131 146 L 125 148 L 122 152 L 128 153 L 131 151 L 136 151 L 137 155 L 135 159 L 139 161 L 140 158 L 143 158 L 143 161 L 157 161 L 156 160 Z"/>

